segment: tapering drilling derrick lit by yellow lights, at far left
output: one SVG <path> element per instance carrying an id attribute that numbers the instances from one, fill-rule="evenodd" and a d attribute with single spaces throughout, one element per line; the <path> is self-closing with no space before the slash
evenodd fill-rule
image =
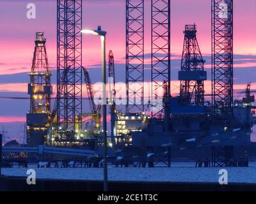
<path id="1" fill-rule="evenodd" d="M 47 59 L 44 33 L 36 33 L 35 51 L 31 72 L 30 110 L 27 113 L 28 143 L 29 145 L 43 145 L 47 136 L 51 120 L 51 71 Z"/>

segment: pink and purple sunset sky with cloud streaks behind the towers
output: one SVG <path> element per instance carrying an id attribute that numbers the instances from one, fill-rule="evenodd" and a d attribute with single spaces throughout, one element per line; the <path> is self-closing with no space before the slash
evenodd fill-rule
<path id="1" fill-rule="evenodd" d="M 36 19 L 26 17 L 27 4 L 36 5 Z M 0 96 L 26 97 L 31 69 L 35 33 L 44 31 L 47 53 L 56 84 L 56 0 L 0 1 Z M 186 24 L 196 24 L 198 42 L 204 55 L 208 78 L 211 78 L 211 0 L 171 0 L 172 94 L 178 94 L 177 73 Z M 116 81 L 124 82 L 125 75 L 125 0 L 84 0 L 83 27 L 96 29 L 101 25 L 108 31 L 107 50 L 113 50 L 116 62 Z M 245 89 L 252 82 L 256 89 L 256 1 L 234 0 L 234 83 L 235 89 Z M 145 68 L 150 72 L 150 0 L 145 0 Z M 92 81 L 99 82 L 100 41 L 95 36 L 83 36 L 83 66 L 90 68 Z M 146 77 L 146 80 L 150 78 Z M 211 92 L 211 82 L 206 82 Z M 237 98 L 243 97 L 236 94 Z M 20 125 L 26 121 L 28 100 L 0 99 L 1 126 L 18 138 Z M 84 105 L 86 106 L 86 105 Z"/>

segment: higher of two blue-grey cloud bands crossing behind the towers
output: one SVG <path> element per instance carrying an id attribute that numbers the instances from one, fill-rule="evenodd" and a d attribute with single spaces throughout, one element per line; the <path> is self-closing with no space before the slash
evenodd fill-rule
<path id="1" fill-rule="evenodd" d="M 150 54 L 145 54 L 145 56 L 149 57 Z M 180 57 L 178 54 L 172 54 L 171 59 L 171 78 L 172 80 L 177 80 L 178 72 L 180 70 Z M 205 70 L 207 71 L 208 78 L 211 78 L 211 55 L 206 54 L 203 56 L 206 60 L 205 62 Z M 52 64 L 53 65 L 53 64 Z M 56 67 L 52 66 L 52 84 L 56 84 Z M 93 83 L 100 82 L 101 77 L 99 75 L 99 71 L 101 70 L 101 64 L 96 63 L 91 66 L 88 66 L 90 78 Z M 11 68 L 16 69 L 16 68 Z M 0 90 L 3 91 L 3 84 L 13 84 L 13 89 L 17 87 L 15 84 L 29 83 L 28 72 L 24 72 L 26 68 L 22 67 L 18 70 L 22 71 L 21 73 L 13 73 L 8 75 L 0 75 L 0 82 L 2 85 L 0 86 Z M 150 81 L 150 71 L 151 71 L 151 61 L 145 61 L 145 82 Z M 125 63 L 115 63 L 115 74 L 116 74 L 116 82 L 125 82 Z M 234 55 L 234 83 L 241 84 L 246 82 L 255 81 L 256 75 L 256 55 Z M 24 85 L 23 85 L 24 86 Z M 22 86 L 22 87 L 23 87 Z M 20 87 L 19 87 L 20 88 Z M 8 89 L 6 89 L 7 91 Z"/>

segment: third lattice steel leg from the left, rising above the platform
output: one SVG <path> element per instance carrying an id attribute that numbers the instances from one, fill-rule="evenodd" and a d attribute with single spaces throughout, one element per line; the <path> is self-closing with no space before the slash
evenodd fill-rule
<path id="1" fill-rule="evenodd" d="M 164 86 L 170 93 L 170 0 L 152 0 L 152 117 L 163 118 Z"/>

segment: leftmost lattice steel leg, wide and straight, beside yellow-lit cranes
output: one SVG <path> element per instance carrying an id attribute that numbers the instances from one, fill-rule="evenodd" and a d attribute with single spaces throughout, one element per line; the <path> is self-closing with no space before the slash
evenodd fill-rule
<path id="1" fill-rule="evenodd" d="M 76 116 L 82 113 L 81 29 L 82 0 L 58 0 L 57 127 L 64 135 L 70 135 L 66 141 L 76 140 Z"/>

